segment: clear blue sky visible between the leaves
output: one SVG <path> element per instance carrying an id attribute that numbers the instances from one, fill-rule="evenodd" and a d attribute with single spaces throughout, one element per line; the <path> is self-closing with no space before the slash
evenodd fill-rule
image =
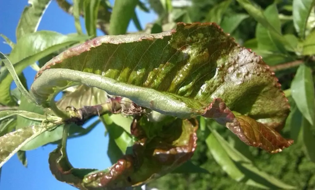
<path id="1" fill-rule="evenodd" d="M 113 0 L 110 2 L 113 4 Z M 14 43 L 16 42 L 15 28 L 26 5 L 27 0 L 0 1 L 0 33 L 7 36 Z M 153 13 L 148 14 L 140 10 L 137 10 L 137 13 L 143 28 L 147 22 L 152 22 L 157 18 Z M 81 23 L 84 24 L 84 21 L 82 20 Z M 54 0 L 50 3 L 43 15 L 38 30 L 52 30 L 62 34 L 76 32 L 73 17 L 59 9 Z M 136 31 L 132 22 L 130 22 L 128 31 Z M 98 31 L 98 35 L 103 34 Z M 3 39 L 1 38 L 0 51 L 9 53 L 11 48 L 9 45 L 2 42 Z M 31 86 L 36 72 L 30 67 L 27 67 L 24 70 L 24 74 L 27 78 L 28 86 Z M 90 132 L 89 135 L 68 140 L 68 156 L 74 167 L 105 169 L 111 165 L 107 156 L 108 137 L 105 137 L 104 133 L 104 127 L 99 125 Z M 52 176 L 49 170 L 48 156 L 55 148 L 56 145 L 48 145 L 28 151 L 26 153 L 28 160 L 27 168 L 25 168 L 20 163 L 17 156 L 14 155 L 2 168 L 0 189 L 76 189 L 70 185 L 57 181 L 54 176 Z"/>

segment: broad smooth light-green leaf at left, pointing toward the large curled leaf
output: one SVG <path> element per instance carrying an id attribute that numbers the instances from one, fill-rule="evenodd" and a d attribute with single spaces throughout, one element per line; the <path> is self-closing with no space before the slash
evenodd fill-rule
<path id="1" fill-rule="evenodd" d="M 67 45 L 87 39 L 80 35 L 62 35 L 52 31 L 39 31 L 28 34 L 19 39 L 19 42 L 12 49 L 9 59 L 14 66 L 15 72 L 19 75 L 24 68 L 37 60 L 49 55 Z M 12 76 L 8 70 L 0 74 L 0 103 L 12 106 L 15 104 L 10 96 L 10 84 Z"/>

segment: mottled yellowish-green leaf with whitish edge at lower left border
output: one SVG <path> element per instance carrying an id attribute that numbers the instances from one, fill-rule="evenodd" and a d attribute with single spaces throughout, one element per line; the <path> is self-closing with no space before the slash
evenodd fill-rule
<path id="1" fill-rule="evenodd" d="M 21 147 L 26 143 L 52 128 L 52 125 L 43 127 L 34 125 L 22 129 L 15 130 L 0 137 L 0 167 L 3 166 Z"/>

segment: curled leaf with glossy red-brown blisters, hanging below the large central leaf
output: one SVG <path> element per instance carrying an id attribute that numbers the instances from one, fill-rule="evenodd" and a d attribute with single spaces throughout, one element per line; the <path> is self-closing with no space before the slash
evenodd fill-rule
<path id="1" fill-rule="evenodd" d="M 141 128 L 142 126 L 139 124 L 140 119 L 141 116 L 136 116 L 131 126 L 132 135 L 138 138 L 138 141 L 132 147 L 133 154 L 124 155 L 108 172 L 101 171 L 85 176 L 83 179 L 85 187 L 103 187 L 104 190 L 117 190 L 139 186 L 165 175 L 192 157 L 197 147 L 197 120 L 175 120 L 175 122 L 182 122 L 183 125 L 190 125 L 189 129 L 186 129 L 180 135 L 183 135 L 187 130 L 190 133 L 187 136 L 188 138 L 180 140 L 185 141 L 185 145 L 174 146 L 173 143 L 180 137 L 177 136 L 178 139 L 167 140 L 174 138 L 174 134 L 169 134 L 169 131 L 153 139 L 147 139 L 144 130 Z M 146 120 L 147 118 L 143 117 L 143 119 Z M 170 126 L 169 129 L 175 132 L 176 129 L 172 127 L 174 126 Z"/>

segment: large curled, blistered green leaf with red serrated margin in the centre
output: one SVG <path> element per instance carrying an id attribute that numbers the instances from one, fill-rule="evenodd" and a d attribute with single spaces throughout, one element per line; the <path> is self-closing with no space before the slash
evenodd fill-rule
<path id="1" fill-rule="evenodd" d="M 95 38 L 46 63 L 31 93 L 49 107 L 59 91 L 80 83 L 179 118 L 204 115 L 216 97 L 277 130 L 289 112 L 277 79 L 261 58 L 209 23 Z"/>

